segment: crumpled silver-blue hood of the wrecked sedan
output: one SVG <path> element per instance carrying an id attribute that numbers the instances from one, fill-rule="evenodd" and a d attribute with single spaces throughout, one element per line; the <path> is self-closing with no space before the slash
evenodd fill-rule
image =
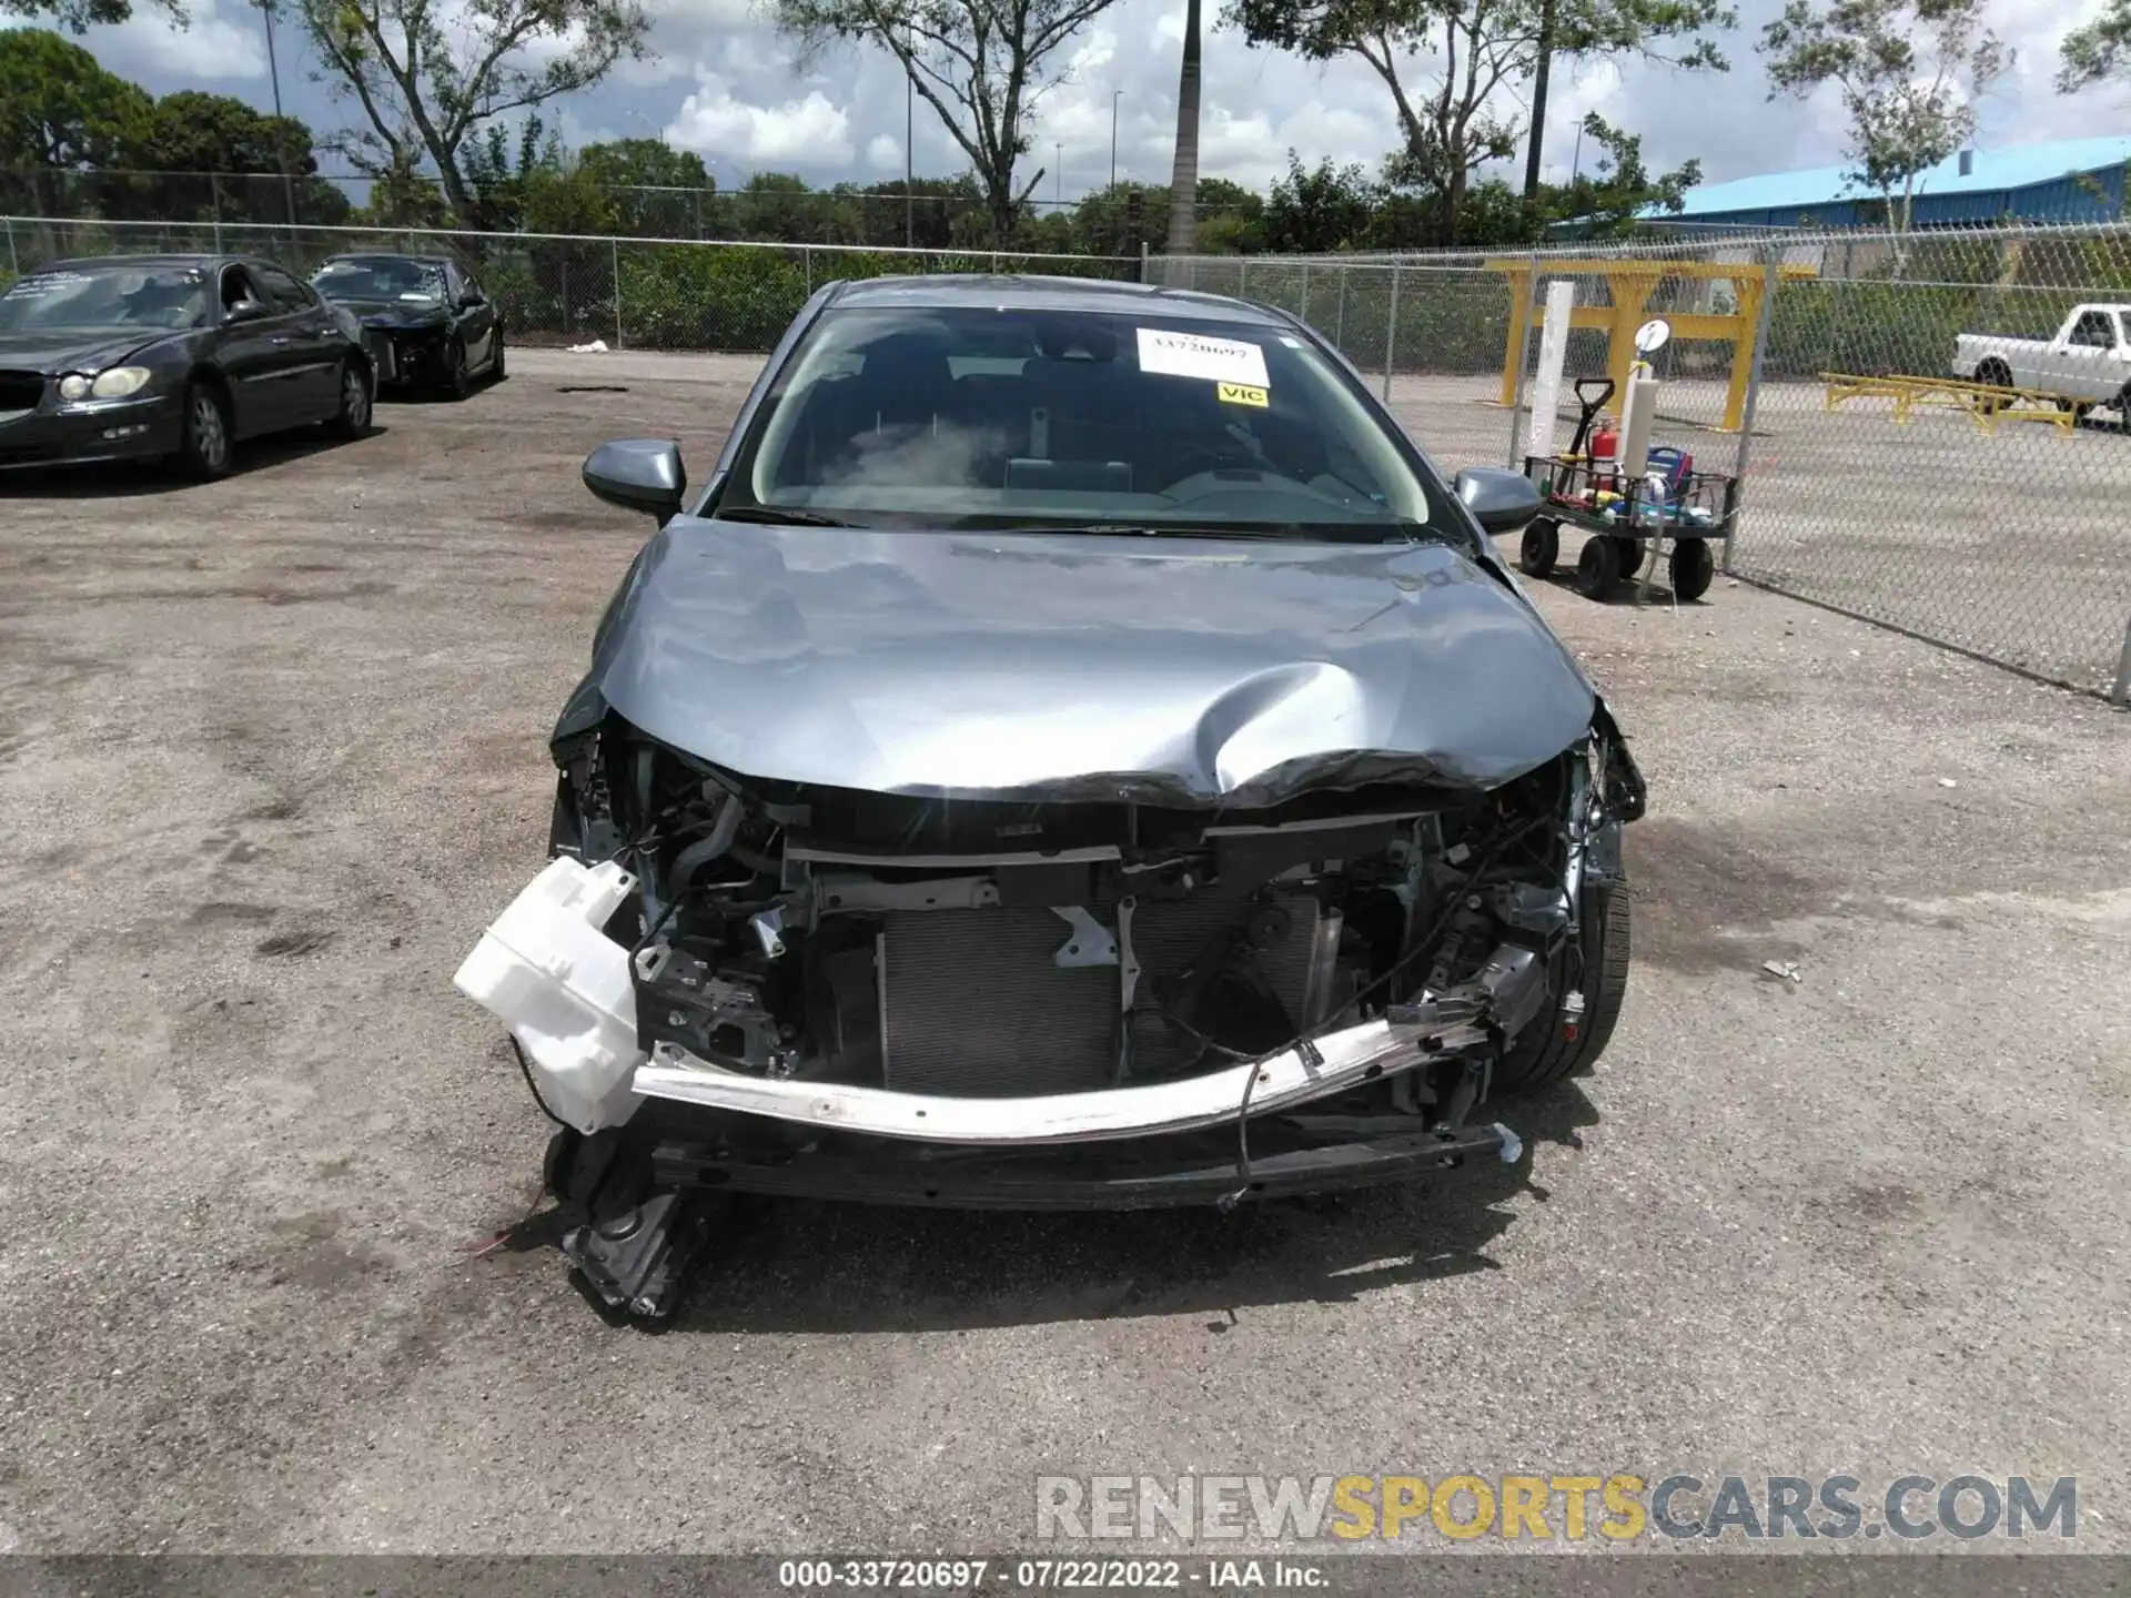
<path id="1" fill-rule="evenodd" d="M 580 714 L 586 690 L 744 776 L 1232 808 L 1492 788 L 1596 710 L 1539 614 L 1445 545 L 693 518 L 646 545 Z"/>

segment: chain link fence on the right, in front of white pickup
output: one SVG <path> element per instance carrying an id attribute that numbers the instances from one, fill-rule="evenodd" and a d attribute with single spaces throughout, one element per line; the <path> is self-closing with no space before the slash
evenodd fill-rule
<path id="1" fill-rule="evenodd" d="M 1571 384 L 1622 375 L 1622 330 L 1666 317 L 1652 441 L 1743 479 L 1733 575 L 2046 682 L 2131 690 L 2131 226 L 1153 273 L 1294 311 L 1449 469 L 1522 464 L 1539 337 L 1517 311 L 1549 281 L 1575 283 L 1579 322 L 1556 450 L 1579 420 Z"/>

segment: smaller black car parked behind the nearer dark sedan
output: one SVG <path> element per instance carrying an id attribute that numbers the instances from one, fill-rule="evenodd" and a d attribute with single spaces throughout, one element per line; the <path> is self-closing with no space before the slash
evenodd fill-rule
<path id="1" fill-rule="evenodd" d="M 503 377 L 503 317 L 448 256 L 332 256 L 311 288 L 362 322 L 379 384 L 465 398 Z"/>

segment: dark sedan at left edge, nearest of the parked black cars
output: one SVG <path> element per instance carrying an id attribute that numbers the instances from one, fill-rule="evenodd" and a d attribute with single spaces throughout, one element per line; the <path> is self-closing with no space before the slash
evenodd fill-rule
<path id="1" fill-rule="evenodd" d="M 0 467 L 175 458 L 230 469 L 237 441 L 371 426 L 362 328 L 249 256 L 62 260 L 0 294 Z"/>

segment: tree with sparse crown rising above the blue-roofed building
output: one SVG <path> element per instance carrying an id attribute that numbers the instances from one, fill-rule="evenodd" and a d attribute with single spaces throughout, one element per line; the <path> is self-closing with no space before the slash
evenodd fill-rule
<path id="1" fill-rule="evenodd" d="M 2012 64 L 1984 0 L 1790 0 L 1760 36 L 1769 98 L 1833 83 L 1850 117 L 1850 181 L 1907 232 L 1916 175 L 1975 134 L 1975 98 Z"/>

